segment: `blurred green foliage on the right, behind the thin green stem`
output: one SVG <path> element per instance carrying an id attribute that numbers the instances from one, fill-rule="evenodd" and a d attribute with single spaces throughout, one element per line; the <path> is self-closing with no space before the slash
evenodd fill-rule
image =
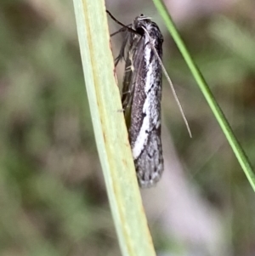
<path id="1" fill-rule="evenodd" d="M 252 17 L 245 14 L 202 17 L 185 26 L 182 35 L 254 166 L 255 33 L 250 23 Z M 205 100 L 194 89 L 195 82 L 190 79 L 178 49 L 171 47 L 168 69 L 173 73 L 173 81 L 181 86 L 184 105 L 189 106 L 187 116 L 194 138 L 191 143 L 184 139 L 184 125 L 180 123 L 174 128 L 171 122 L 175 145 L 203 196 L 223 214 L 233 255 L 253 255 L 254 193 Z M 169 109 L 176 107 L 165 101 L 168 104 L 164 111 L 171 120 L 173 113 Z"/>

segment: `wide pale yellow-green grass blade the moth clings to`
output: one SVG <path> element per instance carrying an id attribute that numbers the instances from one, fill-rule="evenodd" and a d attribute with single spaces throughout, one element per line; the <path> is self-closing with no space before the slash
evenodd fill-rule
<path id="1" fill-rule="evenodd" d="M 122 255 L 155 256 L 144 215 L 102 0 L 73 0 L 94 134 Z"/>

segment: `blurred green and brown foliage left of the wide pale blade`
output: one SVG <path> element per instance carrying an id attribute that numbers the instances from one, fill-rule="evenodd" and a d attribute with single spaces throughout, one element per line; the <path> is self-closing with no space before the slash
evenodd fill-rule
<path id="1" fill-rule="evenodd" d="M 118 250 L 71 4 L 64 33 L 30 3 L 0 3 L 1 255 Z"/>

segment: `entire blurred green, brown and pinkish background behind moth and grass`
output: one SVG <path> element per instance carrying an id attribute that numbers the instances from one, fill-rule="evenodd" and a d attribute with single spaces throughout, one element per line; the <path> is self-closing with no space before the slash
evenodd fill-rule
<path id="1" fill-rule="evenodd" d="M 254 165 L 255 2 L 165 3 Z M 193 133 L 164 80 L 166 168 L 156 188 L 141 191 L 157 254 L 255 255 L 255 194 L 153 3 L 106 6 L 125 24 L 143 13 L 161 27 L 163 62 Z M 2 0 L 0 38 L 0 254 L 121 255 L 72 2 Z M 115 56 L 121 42 L 112 38 Z M 122 65 L 118 73 L 121 82 Z"/>

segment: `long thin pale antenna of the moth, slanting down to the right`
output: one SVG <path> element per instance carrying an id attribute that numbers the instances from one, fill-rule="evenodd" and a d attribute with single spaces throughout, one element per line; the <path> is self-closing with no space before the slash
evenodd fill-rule
<path id="1" fill-rule="evenodd" d="M 183 119 L 184 119 L 184 123 L 185 123 L 185 125 L 186 125 L 187 130 L 188 130 L 188 133 L 190 134 L 190 138 L 192 138 L 192 134 L 191 134 L 191 130 L 190 130 L 190 126 L 189 126 L 188 120 L 187 120 L 187 118 L 185 117 L 185 115 L 184 115 L 184 110 L 183 110 L 183 108 L 182 108 L 182 105 L 180 104 L 180 102 L 179 102 L 179 100 L 178 100 L 178 96 L 177 96 L 176 91 L 175 91 L 175 89 L 174 89 L 174 87 L 173 87 L 173 82 L 171 81 L 170 77 L 168 76 L 167 70 L 166 70 L 165 66 L 163 65 L 163 63 L 162 63 L 162 60 L 161 60 L 160 56 L 158 55 L 158 53 L 157 53 L 157 51 L 156 51 L 156 48 L 154 47 L 153 43 L 151 42 L 151 38 L 150 38 L 149 32 L 144 28 L 144 26 L 142 26 L 142 28 L 143 28 L 144 32 L 147 34 L 147 36 L 149 37 L 150 46 L 151 46 L 151 48 L 152 48 L 154 54 L 156 54 L 156 58 L 157 58 L 157 60 L 159 61 L 160 65 L 161 65 L 161 68 L 162 68 L 162 71 L 163 71 L 164 75 L 165 75 L 166 78 L 167 78 L 167 82 L 170 84 L 170 88 L 171 88 L 171 90 L 172 90 L 172 92 L 173 92 L 174 100 L 176 101 L 176 103 L 177 103 L 177 105 L 178 105 L 178 109 L 179 109 L 179 111 L 181 112 L 181 115 L 182 115 L 182 117 L 183 117 Z"/>

